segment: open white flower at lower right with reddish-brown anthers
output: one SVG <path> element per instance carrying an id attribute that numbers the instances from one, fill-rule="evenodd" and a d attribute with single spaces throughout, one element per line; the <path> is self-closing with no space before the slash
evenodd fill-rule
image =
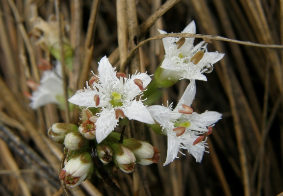
<path id="1" fill-rule="evenodd" d="M 195 80 L 191 80 L 174 110 L 172 110 L 172 104 L 168 107 L 161 105 L 148 107 L 154 120 L 167 131 L 167 158 L 163 166 L 178 158 L 177 154 L 180 148 L 187 149 L 197 162 L 201 162 L 206 143 L 202 141 L 202 138 L 199 143 L 195 145 L 193 143 L 198 142 L 199 134 L 208 131 L 207 126 L 216 123 L 222 116 L 218 112 L 206 111 L 203 114 L 192 112 L 189 106 L 192 104 L 195 94 Z"/>

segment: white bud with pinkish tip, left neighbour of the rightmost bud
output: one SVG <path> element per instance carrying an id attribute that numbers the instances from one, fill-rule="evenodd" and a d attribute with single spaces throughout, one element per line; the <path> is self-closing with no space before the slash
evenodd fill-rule
<path id="1" fill-rule="evenodd" d="M 114 164 L 123 172 L 133 172 L 136 160 L 133 152 L 118 143 L 111 145 L 111 148 L 114 152 Z"/>

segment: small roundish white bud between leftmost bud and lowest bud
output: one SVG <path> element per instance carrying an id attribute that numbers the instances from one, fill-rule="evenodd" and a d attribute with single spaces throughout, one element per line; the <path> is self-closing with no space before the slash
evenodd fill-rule
<path id="1" fill-rule="evenodd" d="M 80 150 L 81 148 L 88 146 L 88 140 L 76 131 L 66 135 L 64 145 L 70 150 Z"/>

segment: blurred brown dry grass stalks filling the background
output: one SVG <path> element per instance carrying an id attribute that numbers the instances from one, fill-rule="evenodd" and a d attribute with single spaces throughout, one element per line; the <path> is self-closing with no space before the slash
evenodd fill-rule
<path id="1" fill-rule="evenodd" d="M 74 70 L 67 82 L 73 92 L 84 86 L 90 70 L 97 70 L 101 57 L 107 55 L 119 67 L 134 47 L 133 38 L 140 42 L 158 35 L 157 28 L 180 32 L 195 20 L 197 33 L 283 43 L 283 0 L 61 0 L 59 10 L 70 27 L 66 36 L 74 49 Z M 54 144 L 46 132 L 52 123 L 77 123 L 79 114 L 71 112 L 69 119 L 53 104 L 33 111 L 23 95 L 30 92 L 28 79 L 40 79 L 40 59 L 52 62 L 35 46 L 37 39 L 28 36 L 30 19 L 47 20 L 52 13 L 53 0 L 0 0 L 1 196 L 62 194 L 57 177 L 62 146 Z M 213 41 L 208 49 L 226 53 L 206 74 L 207 82 L 197 81 L 192 106 L 199 113 L 223 114 L 208 139 L 209 153 L 202 163 L 187 154 L 163 167 L 167 140 L 146 128 L 137 137 L 158 147 L 161 159 L 149 167 L 136 167 L 143 169 L 145 179 L 137 172 L 112 176 L 126 195 L 150 195 L 144 190 L 146 182 L 153 196 L 275 196 L 283 192 L 283 52 L 221 41 Z M 163 56 L 162 42 L 151 41 L 136 52 L 129 72 L 140 65 L 142 72 L 153 74 Z M 169 100 L 176 105 L 187 84 L 181 80 L 164 89 L 159 104 Z M 74 196 L 115 195 L 96 176 L 68 190 Z"/>

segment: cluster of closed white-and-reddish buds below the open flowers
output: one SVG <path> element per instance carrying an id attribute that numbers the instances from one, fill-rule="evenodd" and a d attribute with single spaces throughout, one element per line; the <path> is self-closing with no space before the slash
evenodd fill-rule
<path id="1" fill-rule="evenodd" d="M 68 162 L 59 178 L 70 187 L 79 185 L 97 171 L 91 158 L 89 140 L 96 140 L 98 117 L 86 108 L 82 109 L 81 115 L 79 127 L 71 123 L 56 123 L 48 131 L 52 140 L 65 146 Z M 160 151 L 156 147 L 126 137 L 121 144 L 120 138 L 121 134 L 111 132 L 101 143 L 95 143 L 97 156 L 109 174 L 117 172 L 117 169 L 133 172 L 136 163 L 143 166 L 158 163 Z"/>

